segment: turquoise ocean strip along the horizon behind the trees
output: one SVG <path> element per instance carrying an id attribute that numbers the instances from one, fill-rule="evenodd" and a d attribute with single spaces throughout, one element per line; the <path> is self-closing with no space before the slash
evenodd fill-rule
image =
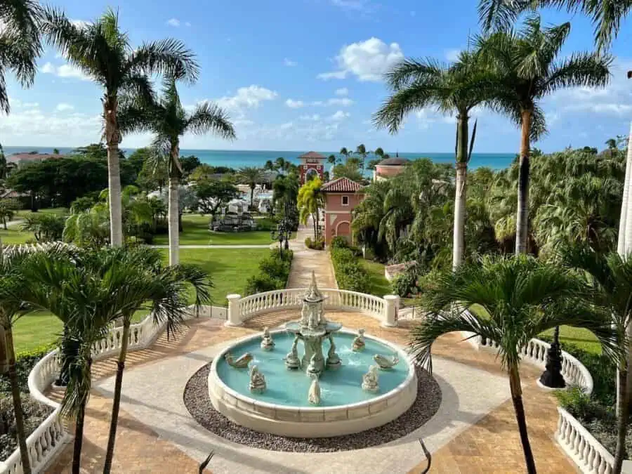
<path id="1" fill-rule="evenodd" d="M 69 153 L 73 149 L 58 147 L 60 153 Z M 129 156 L 133 149 L 124 149 Z M 25 153 L 37 151 L 39 153 L 52 153 L 53 147 L 4 147 L 5 154 Z M 230 168 L 241 168 L 242 166 L 263 166 L 268 159 L 272 162 L 278 157 L 283 157 L 291 162 L 298 164 L 298 156 L 308 150 L 303 151 L 274 151 L 274 150 L 180 150 L 182 156 L 194 154 L 202 163 L 212 166 L 229 166 Z M 328 157 L 330 154 L 337 152 L 320 152 Z M 395 157 L 395 152 L 387 151 L 391 157 Z M 400 157 L 408 159 L 430 158 L 437 163 L 453 163 L 454 153 L 401 153 Z M 374 157 L 367 157 L 372 159 Z M 515 153 L 473 153 L 470 161 L 470 168 L 478 168 L 480 166 L 488 166 L 492 169 L 506 168 L 513 162 Z"/>

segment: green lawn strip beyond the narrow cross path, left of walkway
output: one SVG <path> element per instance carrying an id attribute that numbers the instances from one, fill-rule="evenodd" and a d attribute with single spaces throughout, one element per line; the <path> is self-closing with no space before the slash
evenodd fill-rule
<path id="1" fill-rule="evenodd" d="M 252 232 L 211 232 L 209 216 L 188 214 L 182 218 L 183 231 L 180 232 L 180 245 L 239 245 L 270 244 L 270 232 L 254 230 Z M 169 244 L 169 236 L 157 235 L 154 244 Z"/>

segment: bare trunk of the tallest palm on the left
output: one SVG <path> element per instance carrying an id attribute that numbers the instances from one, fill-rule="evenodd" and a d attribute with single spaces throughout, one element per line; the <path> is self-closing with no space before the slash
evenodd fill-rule
<path id="1" fill-rule="evenodd" d="M 121 133 L 117 124 L 117 97 L 106 94 L 103 99 L 105 142 L 107 144 L 107 185 L 110 188 L 110 244 L 123 244 L 123 218 L 121 211 L 121 172 L 119 169 L 119 142 Z"/>

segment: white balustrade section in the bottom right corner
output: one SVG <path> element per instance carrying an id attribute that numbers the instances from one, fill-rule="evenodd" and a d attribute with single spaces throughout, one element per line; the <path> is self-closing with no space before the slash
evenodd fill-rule
<path id="1" fill-rule="evenodd" d="M 555 440 L 586 474 L 610 474 L 614 456 L 565 409 L 558 407 L 560 418 Z"/>

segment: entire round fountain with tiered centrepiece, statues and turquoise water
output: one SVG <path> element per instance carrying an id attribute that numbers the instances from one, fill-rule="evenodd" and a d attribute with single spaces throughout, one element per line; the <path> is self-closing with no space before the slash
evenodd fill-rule
<path id="1" fill-rule="evenodd" d="M 328 321 L 325 301 L 312 272 L 298 321 L 266 327 L 216 355 L 213 407 L 247 428 L 289 437 L 358 433 L 406 412 L 417 395 L 407 354 Z"/>

